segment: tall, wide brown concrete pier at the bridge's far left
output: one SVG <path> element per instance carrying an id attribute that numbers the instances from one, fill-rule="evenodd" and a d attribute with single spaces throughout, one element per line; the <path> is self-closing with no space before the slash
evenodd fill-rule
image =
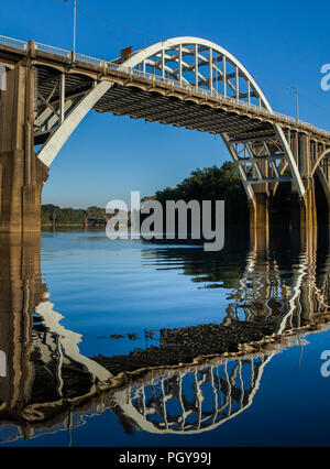
<path id="1" fill-rule="evenodd" d="M 33 144 L 34 77 L 31 66 L 7 73 L 0 100 L 0 232 L 38 232 L 47 167 Z"/>

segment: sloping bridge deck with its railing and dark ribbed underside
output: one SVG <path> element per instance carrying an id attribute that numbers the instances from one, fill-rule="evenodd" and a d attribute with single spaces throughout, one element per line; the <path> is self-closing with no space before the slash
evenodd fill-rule
<path id="1" fill-rule="evenodd" d="M 98 112 L 130 116 L 213 134 L 227 132 L 238 140 L 272 138 L 273 124 L 279 123 L 283 128 L 307 133 L 317 142 L 330 144 L 330 132 L 235 98 L 136 69 L 123 69 L 118 64 L 80 54 L 76 54 L 73 63 L 68 51 L 36 43 L 31 52 L 28 43 L 4 43 L 0 36 L 0 63 L 11 67 L 24 58 L 36 66 L 37 92 L 45 99 L 53 92 L 51 103 L 59 100 L 58 76 L 54 70 L 62 70 L 66 72 L 65 95 L 73 99 L 79 99 L 81 92 L 92 87 L 95 79 L 116 83 L 95 106 Z M 36 143 L 45 139 L 46 135 L 40 135 Z"/>

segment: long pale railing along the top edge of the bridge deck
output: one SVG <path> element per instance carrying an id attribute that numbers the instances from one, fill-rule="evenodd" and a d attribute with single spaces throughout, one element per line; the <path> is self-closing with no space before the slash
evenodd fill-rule
<path id="1" fill-rule="evenodd" d="M 29 42 L 15 40 L 15 39 L 2 36 L 2 35 L 0 35 L 0 44 L 3 44 L 3 45 L 9 46 L 9 47 L 18 48 L 20 51 L 28 51 L 29 50 Z M 280 112 L 270 111 L 266 108 L 253 105 L 252 102 L 242 101 L 241 99 L 238 99 L 235 97 L 223 96 L 216 90 L 196 87 L 194 85 L 190 85 L 189 83 L 178 81 L 178 80 L 175 80 L 175 79 L 172 79 L 172 78 L 166 78 L 166 77 L 163 77 L 163 76 L 160 76 L 160 75 L 150 74 L 147 72 L 139 70 L 136 68 L 125 67 L 123 65 L 114 64 L 113 62 L 102 61 L 100 58 L 90 57 L 88 55 L 78 54 L 78 53 L 73 54 L 72 51 L 66 51 L 64 48 L 54 47 L 52 45 L 46 45 L 46 44 L 42 44 L 42 43 L 38 43 L 38 42 L 35 42 L 34 44 L 35 44 L 36 51 L 42 51 L 42 52 L 45 52 L 45 53 L 48 53 L 48 54 L 54 54 L 54 55 L 58 55 L 61 57 L 66 57 L 66 58 L 73 57 L 73 59 L 75 59 L 75 61 L 84 62 L 84 63 L 91 64 L 91 65 L 102 66 L 102 67 L 106 67 L 106 68 L 119 70 L 119 72 L 125 72 L 125 73 L 132 74 L 134 76 L 147 78 L 147 79 L 151 79 L 151 80 L 161 81 L 161 83 L 164 83 L 166 85 L 172 85 L 176 88 L 187 89 L 189 91 L 195 91 L 195 92 L 201 94 L 204 96 L 210 96 L 210 97 L 213 97 L 213 98 L 221 98 L 222 100 L 224 100 L 229 103 L 239 105 L 239 106 L 242 106 L 242 107 L 248 108 L 248 109 L 254 109 L 254 110 L 257 110 L 258 112 L 261 112 L 262 114 L 264 114 L 266 117 L 270 117 L 270 118 L 277 117 L 278 119 L 286 121 L 288 123 L 298 124 L 299 127 L 306 128 L 308 130 L 317 131 L 317 132 L 323 133 L 327 137 L 330 137 L 329 131 L 323 130 L 323 129 L 319 129 L 311 123 L 295 119 L 293 117 L 283 114 Z"/>

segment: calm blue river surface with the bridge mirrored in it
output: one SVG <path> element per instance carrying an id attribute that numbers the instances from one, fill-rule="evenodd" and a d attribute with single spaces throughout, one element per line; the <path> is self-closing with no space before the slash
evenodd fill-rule
<path id="1" fill-rule="evenodd" d="M 272 239 L 1 238 L 0 444 L 328 446 L 329 243 Z"/>

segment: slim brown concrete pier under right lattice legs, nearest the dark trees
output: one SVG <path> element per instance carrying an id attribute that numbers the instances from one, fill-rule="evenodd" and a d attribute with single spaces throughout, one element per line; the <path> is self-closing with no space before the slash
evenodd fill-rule
<path id="1" fill-rule="evenodd" d="M 250 209 L 250 241 L 256 249 L 266 249 L 270 240 L 268 196 L 266 193 L 255 193 L 249 201 Z"/>

